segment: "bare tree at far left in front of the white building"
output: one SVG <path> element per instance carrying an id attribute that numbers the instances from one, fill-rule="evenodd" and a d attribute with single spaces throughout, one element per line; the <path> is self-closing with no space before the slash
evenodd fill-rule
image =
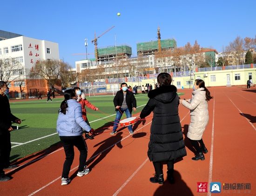
<path id="1" fill-rule="evenodd" d="M 0 80 L 6 81 L 8 84 L 13 80 L 17 80 L 24 74 L 23 66 L 14 58 L 0 59 Z"/>

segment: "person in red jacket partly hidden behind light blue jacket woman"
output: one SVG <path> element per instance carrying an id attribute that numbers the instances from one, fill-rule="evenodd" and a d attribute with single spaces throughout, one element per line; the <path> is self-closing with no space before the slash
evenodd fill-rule
<path id="1" fill-rule="evenodd" d="M 74 91 L 76 93 L 77 96 L 77 102 L 81 105 L 82 107 L 82 117 L 84 119 L 84 121 L 89 124 L 88 118 L 87 118 L 87 112 L 86 112 L 86 107 L 94 110 L 94 111 L 98 111 L 99 108 L 97 108 L 96 106 L 92 105 L 86 98 L 85 98 L 85 94 L 81 91 L 81 89 L 79 87 L 74 87 Z M 86 107 L 85 107 L 86 106 Z M 85 132 L 86 133 L 86 132 Z M 91 134 L 94 134 L 93 131 L 91 131 Z M 90 136 L 89 133 L 85 134 L 85 137 L 87 137 L 88 139 L 94 139 L 93 136 Z"/>

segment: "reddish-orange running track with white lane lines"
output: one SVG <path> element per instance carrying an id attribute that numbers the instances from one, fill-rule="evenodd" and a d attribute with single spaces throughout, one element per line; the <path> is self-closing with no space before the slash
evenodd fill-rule
<path id="1" fill-rule="evenodd" d="M 56 146 L 18 160 L 20 168 L 6 170 L 13 179 L 0 183 L 0 195 L 210 196 L 209 190 L 197 193 L 197 182 L 250 183 L 250 192 L 222 190 L 221 195 L 256 195 L 256 89 L 218 87 L 209 90 L 214 99 L 209 102 L 209 124 L 203 136 L 209 152 L 204 161 L 192 161 L 194 153 L 189 150 L 184 135 L 188 155 L 175 163 L 175 184 L 166 181 L 161 186 L 149 182 L 154 168 L 147 157 L 151 124 L 151 118 L 147 118 L 145 123 L 138 124 L 133 136 L 128 134 L 127 128 L 111 136 L 109 129 L 94 140 L 87 140 L 88 166 L 92 170 L 86 176 L 76 176 L 79 154 L 76 150 L 69 185 L 61 186 L 65 155 L 62 147 Z M 184 98 L 189 98 L 191 90 L 179 92 L 185 92 Z M 184 106 L 179 106 L 184 132 L 190 120 L 188 112 Z M 166 170 L 164 165 L 165 179 Z"/>

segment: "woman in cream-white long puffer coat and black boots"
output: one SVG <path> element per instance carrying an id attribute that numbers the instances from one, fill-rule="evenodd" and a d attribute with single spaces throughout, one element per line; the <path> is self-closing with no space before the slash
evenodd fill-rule
<path id="1" fill-rule="evenodd" d="M 213 97 L 211 97 L 202 79 L 195 80 L 193 90 L 192 98 L 187 100 L 181 99 L 180 104 L 190 110 L 190 124 L 187 137 L 196 150 L 195 157 L 192 160 L 197 161 L 199 159 L 204 160 L 203 153 L 206 154 L 208 152 L 202 141 L 202 134 L 209 122 L 208 101 Z"/>

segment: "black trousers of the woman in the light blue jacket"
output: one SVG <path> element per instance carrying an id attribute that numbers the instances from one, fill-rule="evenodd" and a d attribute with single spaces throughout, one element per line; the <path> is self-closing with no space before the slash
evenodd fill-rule
<path id="1" fill-rule="evenodd" d="M 87 159 L 87 145 L 82 136 L 60 136 L 66 154 L 62 177 L 68 178 L 74 160 L 74 146 L 80 151 L 78 171 L 83 171 Z"/>

